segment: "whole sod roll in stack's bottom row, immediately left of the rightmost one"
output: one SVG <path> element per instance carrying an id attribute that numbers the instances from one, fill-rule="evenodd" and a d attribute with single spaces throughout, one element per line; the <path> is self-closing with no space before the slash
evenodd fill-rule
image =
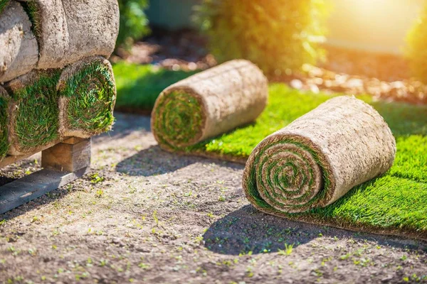
<path id="1" fill-rule="evenodd" d="M 60 70 L 33 70 L 5 85 L 9 107 L 9 154 L 23 155 L 56 143 L 59 138 Z"/>

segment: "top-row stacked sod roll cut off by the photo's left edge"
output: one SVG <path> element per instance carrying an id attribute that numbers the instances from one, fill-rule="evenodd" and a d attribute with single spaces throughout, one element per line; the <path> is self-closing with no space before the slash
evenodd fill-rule
<path id="1" fill-rule="evenodd" d="M 38 46 L 22 6 L 0 1 L 0 82 L 7 82 L 36 67 Z"/>

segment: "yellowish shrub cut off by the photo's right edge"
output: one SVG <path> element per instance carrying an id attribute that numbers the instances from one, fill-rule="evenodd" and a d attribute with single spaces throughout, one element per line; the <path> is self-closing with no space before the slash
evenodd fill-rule
<path id="1" fill-rule="evenodd" d="M 427 5 L 406 38 L 406 58 L 414 77 L 427 84 Z"/>

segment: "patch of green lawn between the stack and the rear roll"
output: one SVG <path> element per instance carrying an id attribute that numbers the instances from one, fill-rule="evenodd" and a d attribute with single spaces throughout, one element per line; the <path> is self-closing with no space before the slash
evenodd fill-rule
<path id="1" fill-rule="evenodd" d="M 151 111 L 163 89 L 196 73 L 127 62 L 116 63 L 112 66 L 112 70 L 117 87 L 115 108 L 136 112 Z"/>

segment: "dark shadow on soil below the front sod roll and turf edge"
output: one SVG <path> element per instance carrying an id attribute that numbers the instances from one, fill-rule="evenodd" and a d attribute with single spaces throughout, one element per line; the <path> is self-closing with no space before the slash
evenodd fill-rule
<path id="1" fill-rule="evenodd" d="M 427 249 L 423 241 L 407 240 L 392 236 L 379 236 L 335 229 L 329 226 L 317 226 L 294 222 L 263 212 L 251 205 L 246 205 L 219 219 L 204 234 L 205 246 L 210 251 L 226 255 L 240 253 L 272 253 L 286 250 L 291 245 L 294 249 L 302 244 L 319 238 L 349 239 L 375 241 L 405 249 Z M 286 245 L 285 245 L 286 244 Z"/>

